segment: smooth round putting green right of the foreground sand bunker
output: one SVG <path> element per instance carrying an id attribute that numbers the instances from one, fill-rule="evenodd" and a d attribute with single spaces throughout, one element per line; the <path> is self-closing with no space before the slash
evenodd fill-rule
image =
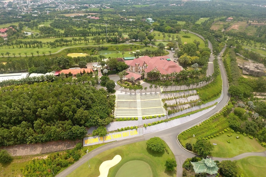
<path id="1" fill-rule="evenodd" d="M 132 160 L 120 167 L 115 177 L 152 177 L 149 164 L 141 160 Z"/>

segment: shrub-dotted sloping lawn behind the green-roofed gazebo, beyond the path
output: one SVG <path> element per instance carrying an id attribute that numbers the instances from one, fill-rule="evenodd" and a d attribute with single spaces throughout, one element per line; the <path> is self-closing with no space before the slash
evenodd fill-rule
<path id="1" fill-rule="evenodd" d="M 239 154 L 247 152 L 263 152 L 266 148 L 262 147 L 256 140 L 250 139 L 247 136 L 244 137 L 242 134 L 232 133 L 231 137 L 228 137 L 227 134 L 231 132 L 227 131 L 224 134 L 219 135 L 218 137 L 210 138 L 210 143 L 215 143 L 214 150 L 211 152 L 211 155 L 214 157 L 230 158 L 237 156 Z M 237 139 L 239 136 L 241 138 Z M 227 140 L 230 139 L 231 143 L 227 143 Z M 185 143 L 196 143 L 197 138 L 189 138 L 184 140 L 182 144 Z M 243 146 L 245 148 L 243 148 Z"/>

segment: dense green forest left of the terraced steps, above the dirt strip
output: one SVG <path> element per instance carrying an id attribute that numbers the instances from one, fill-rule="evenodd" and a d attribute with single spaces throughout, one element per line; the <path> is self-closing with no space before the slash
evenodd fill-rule
<path id="1" fill-rule="evenodd" d="M 88 84 L 41 82 L 1 88 L 0 145 L 83 138 L 112 120 L 114 96 Z"/>

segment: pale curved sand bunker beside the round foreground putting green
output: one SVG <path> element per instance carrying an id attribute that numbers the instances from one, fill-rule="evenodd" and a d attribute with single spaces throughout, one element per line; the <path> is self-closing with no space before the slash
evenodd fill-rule
<path id="1" fill-rule="evenodd" d="M 116 155 L 112 160 L 104 161 L 99 167 L 100 176 L 98 177 L 107 177 L 109 169 L 112 168 L 114 165 L 118 164 L 121 159 L 122 158 L 120 155 Z"/>

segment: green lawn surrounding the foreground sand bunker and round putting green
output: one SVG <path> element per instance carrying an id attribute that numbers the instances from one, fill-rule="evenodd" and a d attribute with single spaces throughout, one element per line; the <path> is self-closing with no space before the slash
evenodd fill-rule
<path id="1" fill-rule="evenodd" d="M 169 147 L 166 144 L 166 147 Z M 68 177 L 77 177 L 77 176 L 89 176 L 97 177 L 100 175 L 99 166 L 102 162 L 106 160 L 111 160 L 115 155 L 120 155 L 122 157 L 121 161 L 112 167 L 109 170 L 109 177 L 114 177 L 120 167 L 122 167 L 126 162 L 132 160 L 141 160 L 150 165 L 152 169 L 153 177 L 164 177 L 164 176 L 175 176 L 176 169 L 172 172 L 165 170 L 165 161 L 168 158 L 174 158 L 172 151 L 169 149 L 169 154 L 165 151 L 163 153 L 152 153 L 150 150 L 147 150 L 146 141 L 141 141 L 138 143 L 132 143 L 117 148 L 109 149 L 101 154 L 96 155 L 89 160 L 90 169 L 88 169 L 88 162 L 82 164 L 80 167 L 75 169 Z M 143 171 L 145 173 L 145 171 Z"/>

